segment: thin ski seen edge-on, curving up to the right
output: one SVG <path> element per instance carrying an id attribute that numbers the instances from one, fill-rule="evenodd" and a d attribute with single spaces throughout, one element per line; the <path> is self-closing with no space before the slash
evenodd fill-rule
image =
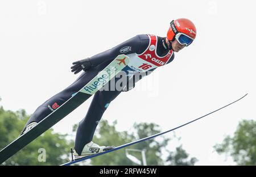
<path id="1" fill-rule="evenodd" d="M 199 120 L 199 119 L 201 119 L 201 118 L 203 118 L 203 117 L 205 117 L 205 116 L 208 116 L 208 115 L 210 115 L 210 114 L 212 114 L 212 113 L 214 113 L 214 112 L 217 112 L 217 111 L 219 111 L 220 109 L 223 109 L 223 108 L 225 108 L 225 107 L 228 107 L 228 106 L 230 106 L 231 104 L 238 102 L 239 100 L 241 100 L 242 98 L 244 98 L 246 95 L 247 95 L 247 94 L 243 95 L 240 99 L 237 99 L 236 101 L 234 101 L 234 102 L 232 102 L 232 103 L 229 103 L 229 104 L 227 104 L 227 105 L 224 106 L 224 107 L 218 108 L 218 109 L 216 109 L 215 111 L 212 111 L 212 112 L 210 112 L 210 113 L 207 113 L 207 114 L 204 115 L 204 116 L 201 116 L 201 117 L 199 117 L 199 118 L 197 118 L 197 119 L 194 119 L 194 120 L 192 120 L 192 121 L 189 121 L 188 123 L 182 124 L 182 125 L 180 125 L 180 126 L 178 126 L 178 127 L 176 127 L 176 128 L 172 128 L 172 129 L 170 129 L 170 130 L 167 130 L 166 132 L 157 133 L 157 134 L 154 134 L 154 135 L 152 135 L 152 136 L 145 137 L 145 138 L 142 138 L 142 139 L 140 139 L 140 140 L 133 141 L 133 142 L 129 142 L 129 143 L 125 144 L 125 145 L 121 145 L 121 146 L 115 147 L 114 149 L 110 149 L 110 150 L 108 150 L 108 151 L 104 151 L 104 152 L 101 152 L 101 153 L 98 153 L 98 154 L 93 154 L 93 155 L 90 155 L 90 156 L 87 156 L 87 157 L 79 158 L 79 159 L 76 159 L 76 160 L 74 160 L 74 161 L 64 163 L 64 164 L 61 165 L 61 166 L 69 166 L 69 165 L 72 165 L 72 164 L 74 164 L 74 163 L 78 163 L 78 162 L 81 162 L 81 161 L 85 161 L 85 160 L 87 160 L 87 159 L 90 159 L 90 158 L 93 158 L 93 157 L 97 157 L 97 156 L 99 156 L 99 155 L 103 155 L 103 154 L 106 154 L 106 153 L 110 153 L 110 152 L 115 151 L 115 150 L 123 149 L 124 147 L 131 146 L 131 145 L 134 145 L 134 144 L 138 144 L 139 142 L 146 141 L 146 140 L 149 140 L 149 139 L 151 139 L 151 138 L 155 138 L 155 137 L 160 136 L 160 135 L 162 135 L 162 134 L 166 134 L 166 133 L 171 132 L 171 131 L 173 131 L 173 130 L 176 130 L 176 129 L 178 129 L 178 128 L 184 127 L 185 125 L 191 124 L 191 123 L 193 123 L 194 121 Z M 72 160 L 73 160 L 73 158 L 72 158 Z"/>

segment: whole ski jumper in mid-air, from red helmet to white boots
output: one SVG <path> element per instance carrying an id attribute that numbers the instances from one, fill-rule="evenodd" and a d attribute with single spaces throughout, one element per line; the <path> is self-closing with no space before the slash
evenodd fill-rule
<path id="1" fill-rule="evenodd" d="M 156 68 L 169 64 L 174 60 L 174 52 L 179 52 L 179 50 L 190 45 L 196 37 L 195 25 L 188 19 L 172 20 L 170 25 L 167 37 L 137 35 L 105 52 L 73 62 L 71 71 L 77 74 L 83 70 L 82 74 L 70 86 L 39 106 L 28 120 L 22 134 L 35 127 L 39 121 L 65 103 L 73 94 L 94 78 L 99 71 L 110 64 L 115 57 L 119 54 L 125 54 L 130 60 L 129 64 L 122 69 L 126 73 L 126 84 L 122 85 L 121 90 L 117 88 L 103 89 L 94 94 L 89 110 L 77 128 L 74 148 L 76 158 L 113 149 L 114 146 L 99 146 L 92 142 L 96 127 L 110 102 L 122 91 L 129 91 L 135 86 L 135 82 L 143 78 L 134 79 L 136 74 L 143 73 L 148 75 Z M 122 78 L 114 77 L 113 79 L 116 83 Z"/>

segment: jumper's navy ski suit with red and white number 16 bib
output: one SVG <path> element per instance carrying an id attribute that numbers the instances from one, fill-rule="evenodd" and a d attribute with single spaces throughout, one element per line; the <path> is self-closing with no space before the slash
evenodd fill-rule
<path id="1" fill-rule="evenodd" d="M 133 79 L 134 75 L 138 73 L 145 73 L 147 75 L 159 66 L 169 64 L 174 60 L 174 52 L 172 49 L 169 50 L 167 48 L 165 39 L 165 37 L 158 37 L 155 35 L 137 35 L 112 49 L 90 57 L 93 67 L 84 71 L 70 86 L 52 96 L 39 106 L 28 120 L 26 126 L 32 122 L 38 123 L 52 111 L 61 106 L 61 104 L 65 103 L 74 93 L 86 85 L 86 83 L 94 78 L 99 71 L 104 69 L 119 54 L 126 54 L 129 56 L 130 62 L 123 68 L 123 71 L 127 74 L 128 80 L 131 78 Z M 114 82 L 117 82 L 121 78 L 115 77 L 113 79 Z M 126 85 L 123 85 L 123 87 L 125 86 L 131 88 L 129 82 L 127 82 Z M 108 108 L 110 102 L 112 102 L 121 92 L 122 90 L 112 89 L 99 90 L 94 94 L 89 110 L 84 119 L 80 121 L 79 127 L 77 128 L 75 150 L 78 154 L 81 154 L 84 146 L 92 141 L 93 134 L 103 113 L 106 111 L 106 108 Z"/>

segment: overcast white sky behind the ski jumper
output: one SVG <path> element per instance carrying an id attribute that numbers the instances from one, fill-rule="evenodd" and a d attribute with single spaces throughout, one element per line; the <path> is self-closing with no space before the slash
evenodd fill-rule
<path id="1" fill-rule="evenodd" d="M 78 77 L 69 69 L 73 61 L 137 34 L 164 37 L 172 19 L 189 18 L 197 28 L 194 43 L 119 95 L 102 119 L 117 119 L 118 130 L 130 130 L 140 121 L 167 130 L 249 92 L 240 102 L 176 130 L 184 149 L 199 159 L 197 165 L 232 165 L 212 147 L 242 119 L 256 120 L 255 15 L 255 1 L 249 0 L 1 1 L 0 105 L 33 113 Z M 91 100 L 55 125 L 55 131 L 70 133 Z"/>

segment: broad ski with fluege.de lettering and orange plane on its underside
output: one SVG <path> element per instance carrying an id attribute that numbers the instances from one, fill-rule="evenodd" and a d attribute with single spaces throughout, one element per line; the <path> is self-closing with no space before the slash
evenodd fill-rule
<path id="1" fill-rule="evenodd" d="M 125 66 L 129 63 L 129 57 L 125 54 L 118 55 L 106 68 L 98 73 L 90 82 L 78 92 L 72 95 L 65 103 L 59 108 L 55 109 L 52 113 L 40 121 L 34 128 L 27 133 L 16 138 L 13 142 L 7 145 L 0 151 L 0 164 L 5 162 L 16 152 L 28 145 L 31 141 L 35 140 L 42 133 L 46 132 L 49 128 L 71 113 L 74 109 L 84 103 L 85 100 L 90 98 L 95 92 L 100 90 L 114 78 Z"/>

